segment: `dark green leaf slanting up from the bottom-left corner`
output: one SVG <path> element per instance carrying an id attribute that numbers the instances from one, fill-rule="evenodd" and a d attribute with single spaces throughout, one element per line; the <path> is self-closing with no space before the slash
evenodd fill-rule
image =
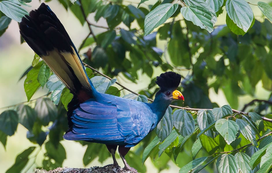
<path id="1" fill-rule="evenodd" d="M 31 146 L 25 151 L 17 155 L 15 163 L 6 171 L 6 173 L 21 172 L 23 168 L 27 165 L 28 156 L 34 151 L 36 147 Z"/>

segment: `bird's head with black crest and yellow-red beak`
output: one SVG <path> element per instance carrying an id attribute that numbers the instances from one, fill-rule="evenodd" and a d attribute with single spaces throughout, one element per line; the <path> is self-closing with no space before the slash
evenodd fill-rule
<path id="1" fill-rule="evenodd" d="M 155 97 L 160 95 L 160 97 L 169 101 L 177 99 L 184 101 L 183 95 L 177 90 L 180 80 L 181 76 L 174 72 L 165 72 L 157 76 L 156 84 L 159 85 L 160 90 L 156 93 Z"/>

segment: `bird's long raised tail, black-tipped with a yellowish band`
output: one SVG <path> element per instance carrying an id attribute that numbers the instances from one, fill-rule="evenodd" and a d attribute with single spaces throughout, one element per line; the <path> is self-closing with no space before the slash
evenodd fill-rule
<path id="1" fill-rule="evenodd" d="M 42 3 L 22 18 L 20 33 L 66 87 L 85 101 L 97 94 L 68 33 L 48 5 Z"/>

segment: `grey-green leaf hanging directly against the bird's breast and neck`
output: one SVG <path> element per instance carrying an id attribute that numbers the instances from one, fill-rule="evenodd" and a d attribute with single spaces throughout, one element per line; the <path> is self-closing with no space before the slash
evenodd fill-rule
<path id="1" fill-rule="evenodd" d="M 173 127 L 174 121 L 172 115 L 172 108 L 168 106 L 156 129 L 157 136 L 160 138 L 161 142 L 163 142 L 165 138 L 171 133 Z"/>

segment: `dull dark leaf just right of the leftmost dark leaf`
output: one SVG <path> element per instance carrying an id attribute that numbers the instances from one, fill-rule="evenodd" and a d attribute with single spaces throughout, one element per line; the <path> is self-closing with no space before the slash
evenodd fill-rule
<path id="1" fill-rule="evenodd" d="M 19 115 L 19 123 L 27 128 L 27 130 L 32 131 L 32 127 L 36 120 L 35 110 L 30 106 L 21 104 L 17 107 L 17 113 Z"/>

